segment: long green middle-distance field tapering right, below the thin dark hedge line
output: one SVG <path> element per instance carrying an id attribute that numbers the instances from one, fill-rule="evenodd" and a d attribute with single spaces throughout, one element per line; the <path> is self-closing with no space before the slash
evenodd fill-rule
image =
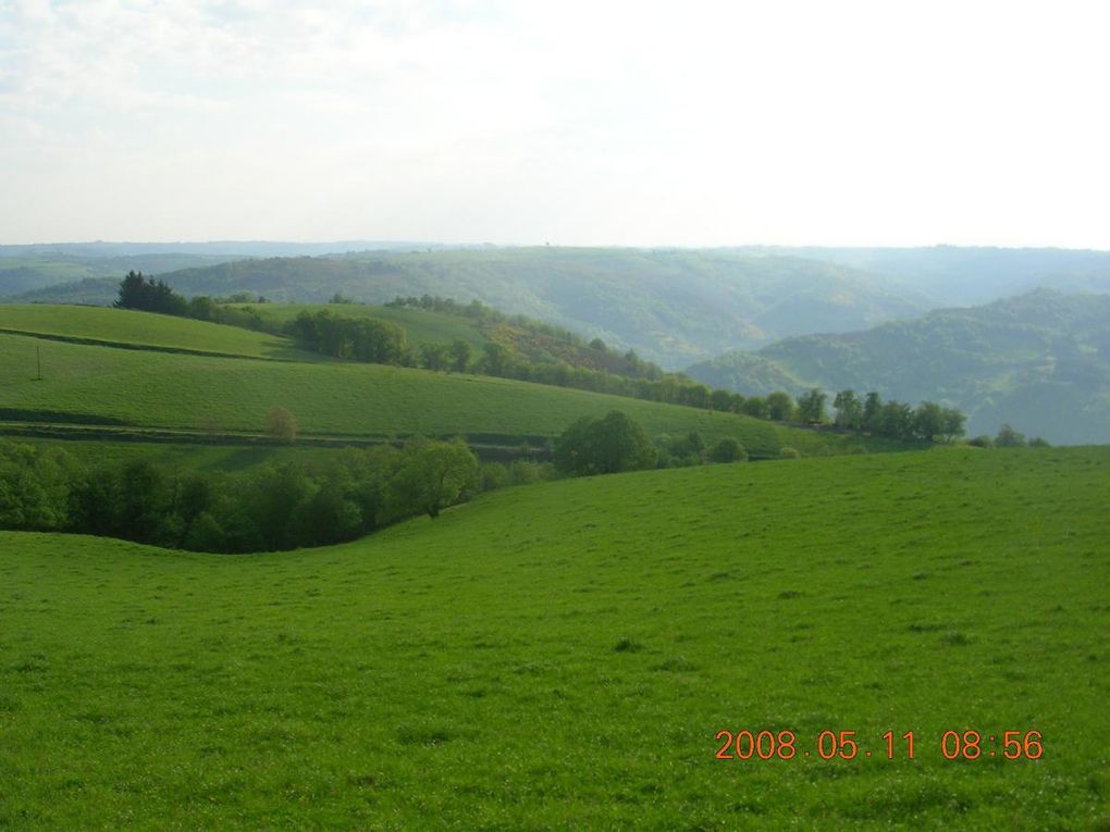
<path id="1" fill-rule="evenodd" d="M 34 381 L 36 347 L 43 381 Z M 710 413 L 485 376 L 369 364 L 297 364 L 169 355 L 0 335 L 0 409 L 52 410 L 135 426 L 260 432 L 275 406 L 305 434 L 556 436 L 581 416 L 619 409 L 649 436 L 697 430 L 777 455 L 889 445 Z"/>

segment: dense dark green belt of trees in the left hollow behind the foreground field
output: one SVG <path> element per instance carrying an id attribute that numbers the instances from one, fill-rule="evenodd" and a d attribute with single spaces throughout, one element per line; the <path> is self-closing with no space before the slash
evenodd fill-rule
<path id="1" fill-rule="evenodd" d="M 150 460 L 84 466 L 54 447 L 0 440 L 0 528 L 118 537 L 175 549 L 246 552 L 352 540 L 529 481 L 541 466 L 486 473 L 462 440 L 347 448 L 312 464 L 231 474 Z"/>

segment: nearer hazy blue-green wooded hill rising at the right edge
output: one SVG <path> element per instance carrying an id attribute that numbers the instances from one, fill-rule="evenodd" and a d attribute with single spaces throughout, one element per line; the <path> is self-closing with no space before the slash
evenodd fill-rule
<path id="1" fill-rule="evenodd" d="M 687 373 L 740 393 L 878 390 L 944 402 L 970 434 L 1003 422 L 1053 443 L 1110 443 L 1110 295 L 1039 290 L 864 332 L 788 338 Z"/>

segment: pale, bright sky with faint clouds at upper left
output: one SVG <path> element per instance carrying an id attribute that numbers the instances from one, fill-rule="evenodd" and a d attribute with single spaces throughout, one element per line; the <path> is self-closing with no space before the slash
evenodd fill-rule
<path id="1" fill-rule="evenodd" d="M 0 244 L 1110 250 L 1110 4 L 0 0 Z"/>

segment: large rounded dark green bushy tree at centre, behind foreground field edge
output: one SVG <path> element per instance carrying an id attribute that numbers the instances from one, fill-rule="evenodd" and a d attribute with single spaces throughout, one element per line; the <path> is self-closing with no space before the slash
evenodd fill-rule
<path id="1" fill-rule="evenodd" d="M 579 476 L 650 468 L 655 459 L 644 429 L 619 410 L 583 417 L 555 442 L 555 467 Z"/>

